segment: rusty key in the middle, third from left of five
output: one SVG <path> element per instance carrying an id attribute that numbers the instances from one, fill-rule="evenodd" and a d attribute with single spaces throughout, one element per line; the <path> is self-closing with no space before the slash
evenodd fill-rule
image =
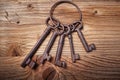
<path id="1" fill-rule="evenodd" d="M 67 64 L 64 61 L 60 61 L 60 59 L 61 59 L 61 54 L 62 54 L 62 50 L 63 50 L 64 39 L 65 39 L 65 36 L 69 32 L 70 32 L 70 28 L 67 26 L 65 28 L 64 33 L 60 36 L 60 39 L 59 39 L 59 42 L 58 42 L 58 48 L 57 48 L 57 52 L 56 52 L 55 65 L 59 66 L 59 67 L 63 67 L 63 68 L 65 68 L 67 66 Z"/>

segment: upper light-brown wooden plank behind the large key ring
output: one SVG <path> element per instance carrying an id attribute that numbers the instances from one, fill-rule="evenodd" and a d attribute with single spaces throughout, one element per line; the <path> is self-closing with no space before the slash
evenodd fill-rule
<path id="1" fill-rule="evenodd" d="M 73 0 L 82 10 L 84 30 L 88 43 L 95 43 L 97 50 L 92 54 L 113 54 L 120 52 L 120 2 L 119 1 L 77 1 Z M 34 46 L 46 28 L 45 20 L 49 15 L 52 1 L 45 0 L 1 0 L 0 2 L 0 56 L 26 55 Z M 31 7 L 28 5 L 31 4 Z M 78 19 L 74 7 L 60 6 L 55 11 L 64 23 Z M 62 10 L 62 12 L 61 12 Z M 63 13 L 67 16 L 64 16 Z M 71 15 L 74 14 L 74 17 Z M 63 18 L 63 19 L 62 19 Z M 51 36 L 51 35 L 50 35 Z M 50 36 L 40 47 L 37 54 L 42 54 Z M 73 34 L 76 53 L 86 52 L 76 33 Z M 55 54 L 58 39 L 51 53 Z M 12 48 L 11 48 L 12 46 Z M 65 55 L 70 55 L 69 42 L 66 38 L 63 49 Z"/>

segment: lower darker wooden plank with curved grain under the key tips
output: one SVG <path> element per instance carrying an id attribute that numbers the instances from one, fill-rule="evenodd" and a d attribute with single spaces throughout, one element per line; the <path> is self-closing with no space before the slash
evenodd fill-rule
<path id="1" fill-rule="evenodd" d="M 119 80 L 120 56 L 117 54 L 81 55 L 81 60 L 71 62 L 70 56 L 62 57 L 67 68 L 59 68 L 52 63 L 45 63 L 36 70 L 20 67 L 24 57 L 0 57 L 1 80 Z M 47 73 L 45 72 L 47 71 Z M 50 73 L 51 74 L 48 74 Z"/>

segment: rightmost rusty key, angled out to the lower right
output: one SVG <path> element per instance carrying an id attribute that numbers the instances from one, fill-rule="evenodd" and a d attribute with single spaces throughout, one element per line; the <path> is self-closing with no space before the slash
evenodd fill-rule
<path id="1" fill-rule="evenodd" d="M 77 24 L 79 23 L 79 24 L 77 25 L 77 28 L 76 28 L 75 30 L 77 31 L 78 36 L 79 36 L 79 38 L 80 38 L 80 40 L 81 40 L 81 42 L 82 42 L 85 50 L 86 50 L 87 52 L 91 52 L 92 50 L 95 50 L 95 49 L 96 49 L 96 48 L 95 48 L 95 45 L 94 45 L 94 44 L 88 45 L 88 43 L 86 42 L 86 40 L 85 40 L 85 38 L 84 38 L 84 35 L 83 35 L 82 32 L 81 32 L 81 30 L 83 29 L 83 24 L 82 24 L 82 22 L 79 21 L 79 22 L 76 22 L 76 23 L 77 23 Z M 75 25 L 76 23 L 74 23 L 74 25 Z"/>

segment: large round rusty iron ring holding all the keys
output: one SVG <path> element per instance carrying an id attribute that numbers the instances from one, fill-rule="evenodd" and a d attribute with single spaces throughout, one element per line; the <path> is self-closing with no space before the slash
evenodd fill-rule
<path id="1" fill-rule="evenodd" d="M 50 19 L 51 19 L 52 22 L 53 22 L 53 20 L 54 20 L 53 12 L 54 12 L 55 8 L 56 8 L 58 5 L 62 4 L 62 3 L 68 3 L 68 4 L 72 4 L 73 6 L 75 6 L 75 7 L 77 8 L 78 12 L 79 12 L 79 15 L 80 15 L 79 20 L 82 21 L 82 12 L 81 12 L 80 8 L 79 8 L 76 4 L 74 4 L 74 3 L 71 2 L 71 1 L 58 1 L 58 2 L 56 2 L 56 3 L 51 7 L 51 10 L 50 10 Z M 58 21 L 58 20 L 57 20 L 57 21 Z M 56 24 L 56 23 L 53 22 L 53 24 Z"/>

